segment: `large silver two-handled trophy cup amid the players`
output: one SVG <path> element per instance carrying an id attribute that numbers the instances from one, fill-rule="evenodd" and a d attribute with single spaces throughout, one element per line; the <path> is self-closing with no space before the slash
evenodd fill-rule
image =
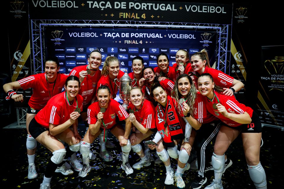
<path id="1" fill-rule="evenodd" d="M 116 81 L 119 81 L 120 84 L 118 85 L 116 83 Z M 118 79 L 114 79 L 114 83 L 117 85 L 118 89 L 119 89 L 119 94 L 120 94 L 120 97 L 122 98 L 123 100 L 123 104 L 122 104 L 122 107 L 125 109 L 125 110 L 128 110 L 129 107 L 128 107 L 128 104 L 125 103 L 125 100 L 128 100 L 129 101 L 129 92 L 130 92 L 130 89 L 134 86 L 132 85 L 132 82 L 135 81 L 134 85 L 137 83 L 137 79 L 131 79 L 127 73 L 125 73 L 121 78 L 120 80 Z"/>

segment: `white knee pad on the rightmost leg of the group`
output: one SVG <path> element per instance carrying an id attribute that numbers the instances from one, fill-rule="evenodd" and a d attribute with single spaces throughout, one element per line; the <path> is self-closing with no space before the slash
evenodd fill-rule
<path id="1" fill-rule="evenodd" d="M 267 185 L 266 175 L 260 162 L 256 166 L 248 165 L 248 168 L 249 168 L 249 176 L 251 177 L 251 180 L 254 182 L 254 185 L 256 187 L 265 187 Z"/>

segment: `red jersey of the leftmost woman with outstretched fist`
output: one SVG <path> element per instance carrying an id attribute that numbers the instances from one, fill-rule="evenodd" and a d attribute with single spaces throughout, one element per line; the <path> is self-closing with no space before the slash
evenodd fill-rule
<path id="1" fill-rule="evenodd" d="M 51 97 L 62 92 L 67 77 L 67 75 L 57 73 L 56 81 L 48 83 L 46 74 L 41 73 L 20 79 L 18 82 L 24 90 L 33 88 L 28 105 L 35 110 L 41 110 Z"/>

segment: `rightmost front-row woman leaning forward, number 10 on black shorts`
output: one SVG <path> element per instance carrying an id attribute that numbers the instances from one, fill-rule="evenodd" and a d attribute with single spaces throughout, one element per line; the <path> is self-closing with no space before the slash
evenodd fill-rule
<path id="1" fill-rule="evenodd" d="M 222 88 L 214 84 L 212 76 L 208 73 L 199 76 L 198 89 L 204 96 L 204 103 L 209 113 L 224 123 L 217 134 L 212 156 L 215 179 L 206 188 L 223 188 L 221 178 L 225 164 L 224 153 L 241 133 L 251 180 L 257 189 L 266 189 L 266 175 L 259 161 L 261 122 L 258 115 L 250 107 L 240 104 L 235 97 L 225 95 Z"/>

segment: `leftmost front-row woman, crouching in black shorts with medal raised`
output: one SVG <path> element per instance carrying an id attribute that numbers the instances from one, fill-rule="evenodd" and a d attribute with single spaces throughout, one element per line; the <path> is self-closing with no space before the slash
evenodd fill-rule
<path id="1" fill-rule="evenodd" d="M 81 137 L 78 133 L 78 120 L 83 109 L 83 97 L 77 95 L 80 81 L 75 76 L 66 79 L 65 92 L 55 95 L 30 121 L 30 134 L 43 146 L 49 149 L 53 156 L 46 166 L 41 188 L 50 188 L 51 177 L 62 162 L 74 152 L 79 151 Z M 69 128 L 72 126 L 72 130 Z M 61 141 L 69 146 L 65 149 Z M 65 163 L 63 163 L 65 164 Z M 64 172 L 70 175 L 73 172 Z"/>

